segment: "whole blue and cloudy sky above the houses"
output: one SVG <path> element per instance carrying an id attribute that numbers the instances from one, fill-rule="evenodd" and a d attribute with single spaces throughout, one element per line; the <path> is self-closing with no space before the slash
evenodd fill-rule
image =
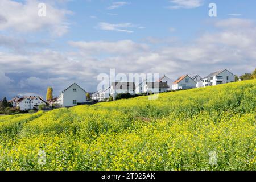
<path id="1" fill-rule="evenodd" d="M 1 0 L 0 98 L 45 97 L 48 86 L 58 96 L 73 82 L 94 92 L 110 69 L 171 80 L 252 72 L 255 9 L 255 0 Z"/>

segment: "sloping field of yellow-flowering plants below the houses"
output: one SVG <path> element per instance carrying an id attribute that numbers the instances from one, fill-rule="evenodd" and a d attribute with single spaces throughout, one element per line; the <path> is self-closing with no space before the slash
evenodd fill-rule
<path id="1" fill-rule="evenodd" d="M 256 170 L 256 80 L 0 117 L 0 170 Z"/>

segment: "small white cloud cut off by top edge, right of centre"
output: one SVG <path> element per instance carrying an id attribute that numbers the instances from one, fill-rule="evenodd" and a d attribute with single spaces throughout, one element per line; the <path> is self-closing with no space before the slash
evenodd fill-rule
<path id="1" fill-rule="evenodd" d="M 203 0 L 171 0 L 173 5 L 169 6 L 170 9 L 193 9 L 203 5 Z"/>

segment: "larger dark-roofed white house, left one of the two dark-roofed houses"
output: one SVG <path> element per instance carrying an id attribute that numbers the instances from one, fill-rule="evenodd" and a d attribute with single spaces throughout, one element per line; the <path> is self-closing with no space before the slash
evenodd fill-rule
<path id="1" fill-rule="evenodd" d="M 117 94 L 129 93 L 135 94 L 134 82 L 112 82 L 110 86 L 110 95 L 115 99 Z"/>

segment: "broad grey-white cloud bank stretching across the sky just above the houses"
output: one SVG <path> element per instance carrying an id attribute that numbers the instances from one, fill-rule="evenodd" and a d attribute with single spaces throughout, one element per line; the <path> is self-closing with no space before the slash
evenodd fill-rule
<path id="1" fill-rule="evenodd" d="M 185 73 L 205 76 L 229 69 L 240 75 L 255 69 L 255 23 L 246 19 L 220 20 L 213 30 L 185 43 L 164 43 L 168 38 L 151 38 L 151 44 L 132 40 L 80 41 L 69 42 L 79 48 L 74 52 L 0 52 L 0 78 L 11 87 L 0 89 L 0 96 L 30 92 L 45 96 L 47 86 L 53 86 L 57 95 L 73 82 L 92 92 L 97 88 L 97 75 L 109 73 L 111 68 L 116 73 L 166 73 L 173 80 Z"/>

